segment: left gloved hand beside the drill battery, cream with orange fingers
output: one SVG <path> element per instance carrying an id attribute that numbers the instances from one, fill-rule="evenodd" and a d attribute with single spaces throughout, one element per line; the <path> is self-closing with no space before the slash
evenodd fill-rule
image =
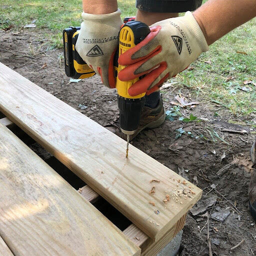
<path id="1" fill-rule="evenodd" d="M 115 87 L 113 57 L 122 21 L 120 10 L 107 14 L 82 13 L 83 22 L 75 44 L 81 58 L 101 76 L 104 85 Z"/>

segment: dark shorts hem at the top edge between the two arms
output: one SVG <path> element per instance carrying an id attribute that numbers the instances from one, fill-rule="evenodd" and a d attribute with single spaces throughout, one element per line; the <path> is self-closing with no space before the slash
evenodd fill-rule
<path id="1" fill-rule="evenodd" d="M 184 12 L 201 4 L 202 0 L 136 0 L 136 7 L 148 12 Z"/>

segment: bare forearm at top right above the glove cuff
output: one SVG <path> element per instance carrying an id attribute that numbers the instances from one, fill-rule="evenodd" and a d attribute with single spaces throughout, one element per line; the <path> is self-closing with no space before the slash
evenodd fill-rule
<path id="1" fill-rule="evenodd" d="M 256 0 L 208 0 L 193 12 L 210 45 L 256 16 Z"/>

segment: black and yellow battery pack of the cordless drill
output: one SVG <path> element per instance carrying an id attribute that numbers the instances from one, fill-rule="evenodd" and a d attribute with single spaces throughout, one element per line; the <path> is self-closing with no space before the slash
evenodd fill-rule
<path id="1" fill-rule="evenodd" d="M 63 30 L 65 73 L 74 79 L 87 78 L 95 74 L 75 49 L 79 30 L 79 26 L 69 26 Z"/>

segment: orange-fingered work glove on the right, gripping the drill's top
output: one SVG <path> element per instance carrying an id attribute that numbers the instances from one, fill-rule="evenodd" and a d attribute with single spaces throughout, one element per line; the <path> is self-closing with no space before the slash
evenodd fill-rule
<path id="1" fill-rule="evenodd" d="M 164 81 L 184 70 L 201 52 L 208 50 L 204 35 L 190 11 L 150 26 L 151 32 L 118 58 L 127 65 L 118 73 L 121 81 L 145 75 L 128 89 L 131 96 L 150 94 Z"/>

